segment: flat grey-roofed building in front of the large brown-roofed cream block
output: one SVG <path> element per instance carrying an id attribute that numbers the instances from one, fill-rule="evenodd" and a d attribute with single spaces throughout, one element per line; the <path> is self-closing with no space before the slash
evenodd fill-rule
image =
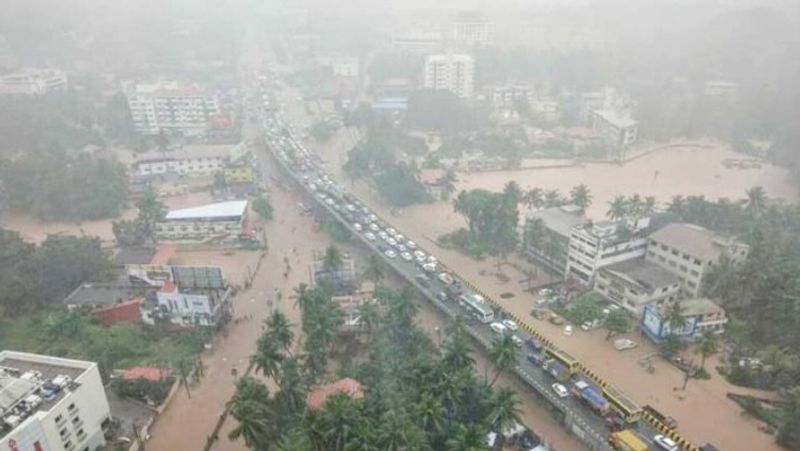
<path id="1" fill-rule="evenodd" d="M 678 277 L 644 258 L 609 265 L 597 273 L 594 291 L 641 318 L 648 304 L 662 305 L 681 296 Z"/>

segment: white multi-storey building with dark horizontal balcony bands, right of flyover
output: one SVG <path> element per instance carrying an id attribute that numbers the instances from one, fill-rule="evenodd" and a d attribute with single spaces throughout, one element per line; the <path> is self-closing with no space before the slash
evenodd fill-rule
<path id="1" fill-rule="evenodd" d="M 646 227 L 649 222 L 640 224 Z M 572 229 L 565 277 L 592 286 L 600 268 L 644 256 L 647 238 L 635 231 L 621 233 L 627 227 L 623 221 L 602 221 Z"/>

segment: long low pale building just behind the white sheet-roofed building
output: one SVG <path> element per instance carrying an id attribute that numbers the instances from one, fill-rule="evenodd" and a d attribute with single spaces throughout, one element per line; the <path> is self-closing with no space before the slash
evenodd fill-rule
<path id="1" fill-rule="evenodd" d="M 211 175 L 225 168 L 232 146 L 193 145 L 176 150 L 151 150 L 136 154 L 136 174 L 140 176 L 174 173 Z"/>

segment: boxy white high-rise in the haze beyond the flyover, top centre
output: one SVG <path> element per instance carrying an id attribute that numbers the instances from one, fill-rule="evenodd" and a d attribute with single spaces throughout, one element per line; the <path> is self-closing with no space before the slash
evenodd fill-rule
<path id="1" fill-rule="evenodd" d="M 472 97 L 475 60 L 470 55 L 431 55 L 425 59 L 425 87 L 446 89 L 461 98 Z"/>

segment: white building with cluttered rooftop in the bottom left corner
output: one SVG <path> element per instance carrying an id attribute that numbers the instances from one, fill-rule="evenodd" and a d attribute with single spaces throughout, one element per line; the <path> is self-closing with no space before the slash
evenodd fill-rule
<path id="1" fill-rule="evenodd" d="M 0 352 L 0 449 L 88 451 L 111 413 L 97 364 Z"/>

